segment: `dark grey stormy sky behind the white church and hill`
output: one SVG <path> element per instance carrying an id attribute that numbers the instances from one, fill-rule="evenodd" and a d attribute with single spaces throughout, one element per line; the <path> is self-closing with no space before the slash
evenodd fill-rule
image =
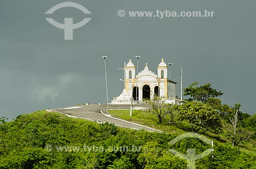
<path id="1" fill-rule="evenodd" d="M 183 86 L 198 81 L 224 92 L 223 104 L 242 104 L 242 111 L 256 112 L 256 2 L 255 1 L 72 1 L 92 14 L 62 8 L 51 16 L 51 7 L 65 1 L 0 2 L 0 116 L 77 103 L 106 103 L 106 55 L 109 100 L 118 96 L 123 71 L 118 67 L 136 55 L 155 71 L 163 57 L 173 62 L 172 80 L 183 68 Z M 212 18 L 157 18 L 117 11 L 215 11 Z M 64 40 L 63 30 L 46 17 L 63 23 L 92 19 Z M 169 72 L 169 71 L 168 71 Z M 180 77 L 175 79 L 180 97 Z"/>

